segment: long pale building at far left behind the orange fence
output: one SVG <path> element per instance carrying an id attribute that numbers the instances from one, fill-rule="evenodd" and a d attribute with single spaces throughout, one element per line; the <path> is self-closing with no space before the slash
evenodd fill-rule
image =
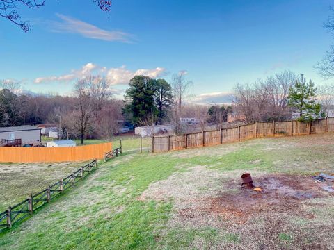
<path id="1" fill-rule="evenodd" d="M 0 146 L 39 145 L 40 141 L 40 128 L 37 126 L 0 128 Z"/>

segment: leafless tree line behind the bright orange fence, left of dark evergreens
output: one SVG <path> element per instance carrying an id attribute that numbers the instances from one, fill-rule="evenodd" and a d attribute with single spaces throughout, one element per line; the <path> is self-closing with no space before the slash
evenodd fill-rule
<path id="1" fill-rule="evenodd" d="M 19 94 L 19 85 L 0 82 L 0 126 L 59 124 L 71 138 L 111 140 L 122 126 L 123 102 L 113 98 L 102 76 L 86 76 L 72 96 Z M 61 119 L 61 120 L 60 120 Z"/>

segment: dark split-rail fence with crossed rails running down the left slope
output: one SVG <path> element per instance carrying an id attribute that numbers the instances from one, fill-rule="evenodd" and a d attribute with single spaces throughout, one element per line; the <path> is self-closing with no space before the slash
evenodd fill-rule
<path id="1" fill-rule="evenodd" d="M 118 153 L 122 153 L 122 147 L 118 147 L 117 149 L 105 153 L 104 157 L 106 157 L 106 155 L 111 156 L 108 158 L 109 160 L 118 156 Z M 61 178 L 60 181 L 49 185 L 45 190 L 42 190 L 37 194 L 31 194 L 28 199 L 25 199 L 15 206 L 8 207 L 6 211 L 0 213 L 0 232 L 6 228 L 11 228 L 13 224 L 21 222 L 26 217 L 29 217 L 29 215 L 32 215 L 38 208 L 45 205 L 45 203 L 49 203 L 52 199 L 56 198 L 58 194 L 71 188 L 75 183 L 90 174 L 90 172 L 96 168 L 97 160 L 95 159 L 84 165 L 84 167 L 80 167 L 69 176 Z"/>

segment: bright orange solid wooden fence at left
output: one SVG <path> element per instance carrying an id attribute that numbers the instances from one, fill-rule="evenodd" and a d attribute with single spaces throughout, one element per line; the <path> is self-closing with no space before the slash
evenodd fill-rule
<path id="1" fill-rule="evenodd" d="M 102 160 L 111 142 L 79 147 L 0 147 L 0 163 L 51 163 Z"/>

